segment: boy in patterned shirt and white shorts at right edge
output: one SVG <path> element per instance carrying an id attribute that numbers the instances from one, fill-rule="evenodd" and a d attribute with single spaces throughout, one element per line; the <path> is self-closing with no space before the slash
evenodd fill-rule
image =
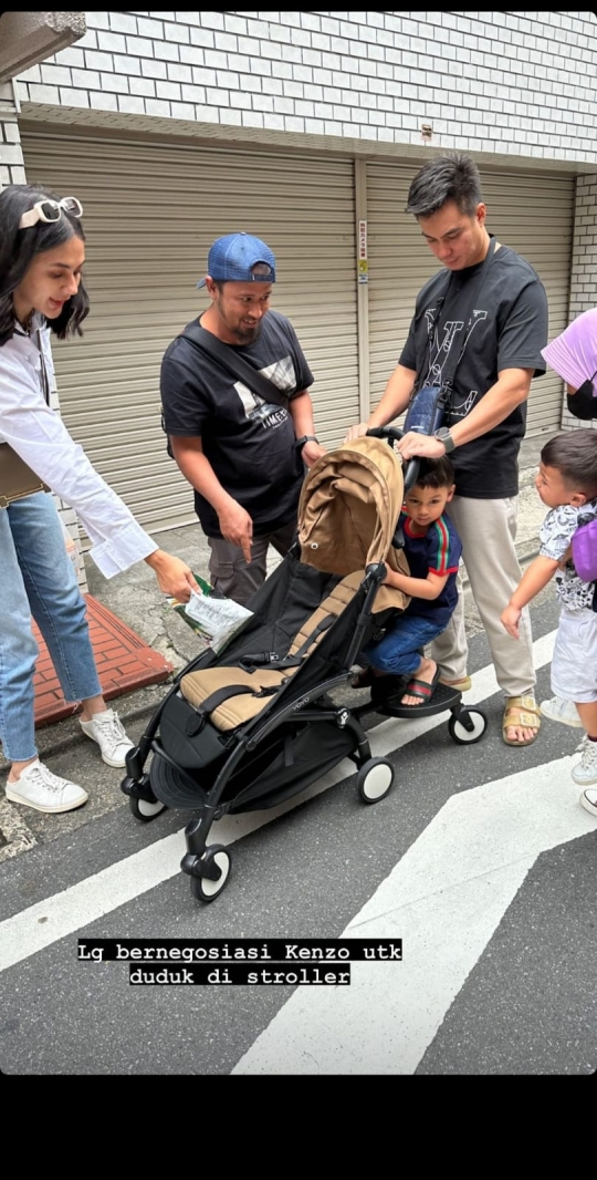
<path id="1" fill-rule="evenodd" d="M 540 452 L 536 487 L 551 511 L 539 531 L 539 556 L 524 573 L 502 622 L 518 638 L 523 607 L 556 575 L 562 610 L 551 689 L 556 697 L 575 702 L 583 723 L 583 756 L 572 778 L 585 787 L 582 806 L 597 818 L 597 584 L 584 582 L 572 560 L 560 569 L 577 527 L 597 519 L 597 431 L 569 431 L 550 439 Z"/>

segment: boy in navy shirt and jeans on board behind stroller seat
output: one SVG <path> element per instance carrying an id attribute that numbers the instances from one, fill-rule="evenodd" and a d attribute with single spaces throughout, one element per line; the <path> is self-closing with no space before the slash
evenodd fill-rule
<path id="1" fill-rule="evenodd" d="M 453 493 L 455 471 L 447 455 L 422 459 L 399 520 L 411 576 L 389 570 L 384 579 L 411 601 L 384 637 L 364 648 L 370 667 L 356 677 L 353 688 L 371 686 L 376 675 L 390 673 L 410 676 L 400 704 L 420 706 L 431 700 L 439 670 L 420 649 L 442 634 L 458 601 L 456 576 L 463 546 L 444 514 Z"/>

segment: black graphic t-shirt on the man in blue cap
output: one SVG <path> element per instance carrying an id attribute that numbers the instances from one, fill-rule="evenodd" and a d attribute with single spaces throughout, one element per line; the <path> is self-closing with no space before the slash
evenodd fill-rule
<path id="1" fill-rule="evenodd" d="M 267 312 L 252 345 L 231 346 L 288 401 L 313 384 L 290 320 Z M 215 358 L 177 336 L 161 362 L 164 430 L 201 439 L 220 484 L 243 505 L 258 536 L 273 532 L 297 511 L 305 468 L 287 409 L 267 404 Z M 199 492 L 197 514 L 208 537 L 221 537 L 218 513 Z"/>

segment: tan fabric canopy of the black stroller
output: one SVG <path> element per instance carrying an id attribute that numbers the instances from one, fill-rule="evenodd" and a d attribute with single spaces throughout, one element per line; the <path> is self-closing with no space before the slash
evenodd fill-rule
<path id="1" fill-rule="evenodd" d="M 404 498 L 402 459 L 383 439 L 360 438 L 321 455 L 305 478 L 298 510 L 300 559 L 346 576 L 376 562 L 410 573 L 394 537 Z M 382 585 L 374 610 L 404 610 L 410 598 Z"/>

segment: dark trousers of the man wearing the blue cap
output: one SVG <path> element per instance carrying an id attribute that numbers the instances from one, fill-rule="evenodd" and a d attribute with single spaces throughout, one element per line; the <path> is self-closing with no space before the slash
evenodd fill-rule
<path id="1" fill-rule="evenodd" d="M 210 582 L 226 598 L 233 598 L 241 607 L 259 590 L 267 573 L 267 550 L 270 544 L 285 557 L 294 540 L 297 522 L 293 518 L 276 532 L 253 537 L 251 562 L 245 562 L 243 550 L 224 537 L 207 537 L 211 549 Z"/>

